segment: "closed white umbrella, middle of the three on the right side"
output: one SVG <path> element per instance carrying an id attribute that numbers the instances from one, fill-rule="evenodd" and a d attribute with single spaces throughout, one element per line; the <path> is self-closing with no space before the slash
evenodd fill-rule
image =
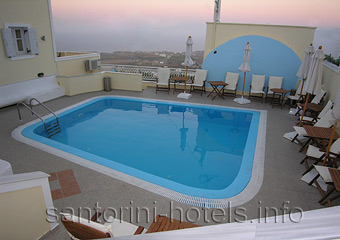
<path id="1" fill-rule="evenodd" d="M 306 106 L 308 103 L 309 95 L 310 94 L 317 94 L 321 90 L 321 80 L 322 80 L 322 71 L 323 71 L 323 59 L 325 55 L 322 51 L 322 46 L 319 46 L 319 49 L 315 51 L 312 56 L 312 60 L 310 63 L 310 67 L 307 74 L 306 80 L 306 102 L 303 107 L 303 113 L 300 120 L 300 126 L 302 126 L 303 116 L 306 112 Z"/>

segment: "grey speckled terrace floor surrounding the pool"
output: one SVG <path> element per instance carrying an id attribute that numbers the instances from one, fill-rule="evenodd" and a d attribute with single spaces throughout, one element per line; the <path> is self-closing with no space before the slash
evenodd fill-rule
<path id="1" fill-rule="evenodd" d="M 268 119 L 263 184 L 258 194 L 251 201 L 240 206 L 244 209 L 238 207 L 237 210 L 239 213 L 246 215 L 247 219 L 255 219 L 264 217 L 266 207 L 276 208 L 281 215 L 281 208 L 285 202 L 285 206 L 288 207 L 286 212 L 289 212 L 293 208 L 301 208 L 304 211 L 307 211 L 325 207 L 318 203 L 318 200 L 321 197 L 318 190 L 308 186 L 305 182 L 300 180 L 301 174 L 304 172 L 305 168 L 303 165 L 300 165 L 299 162 L 304 158 L 305 154 L 298 152 L 298 145 L 291 143 L 282 137 L 284 133 L 293 130 L 292 126 L 296 124 L 297 121 L 295 116 L 288 114 L 288 107 L 284 109 L 272 108 L 269 103 L 260 103 L 259 101 L 252 101 L 251 104 L 247 105 L 239 105 L 233 102 L 232 97 L 227 97 L 226 100 L 216 98 L 214 101 L 211 101 L 210 98 L 207 98 L 207 94 L 200 96 L 200 94 L 195 93 L 191 99 L 183 100 L 178 99 L 176 94 L 173 95 L 172 93 L 170 93 L 170 95 L 166 92 L 155 94 L 154 88 L 146 89 L 143 92 L 111 91 L 107 93 L 100 91 L 80 94 L 73 97 L 65 96 L 49 101 L 46 105 L 54 111 L 57 111 L 88 98 L 101 95 L 133 96 L 267 110 Z M 41 110 L 40 112 L 43 112 L 42 109 L 37 107 L 38 112 L 39 110 Z M 33 119 L 28 111 L 23 110 L 22 113 L 24 121 L 19 122 L 17 111 L 14 106 L 0 109 L 0 158 L 9 161 L 12 164 L 14 173 L 32 171 L 54 173 L 71 169 L 74 174 L 72 179 L 75 179 L 75 183 L 71 181 L 71 183 L 66 183 L 66 185 L 78 184 L 79 188 L 71 187 L 73 192 L 65 191 L 63 193 L 64 195 L 61 195 L 59 196 L 59 199 L 54 200 L 54 206 L 58 211 L 61 211 L 66 207 L 73 207 L 74 209 L 77 209 L 78 207 L 93 208 L 94 204 L 98 202 L 102 209 L 112 207 L 117 211 L 121 207 L 129 209 L 132 207 L 134 211 L 138 207 L 140 209 L 143 207 L 148 208 L 151 214 L 150 221 L 152 221 L 153 216 L 157 214 L 167 214 L 167 216 L 170 216 L 171 210 L 174 210 L 177 207 L 183 209 L 184 214 L 188 212 L 191 219 L 197 218 L 197 212 L 191 205 L 172 201 L 173 207 L 171 208 L 171 200 L 167 198 L 160 197 L 126 182 L 113 179 L 14 140 L 11 137 L 13 129 Z M 152 146 L 150 146 L 150 150 L 152 151 Z M 66 173 L 67 172 L 70 171 L 66 171 Z M 63 183 L 61 179 L 59 179 L 59 181 L 51 181 L 50 186 L 51 190 L 69 187 L 65 186 L 65 183 Z M 340 202 L 334 202 L 333 205 L 340 205 Z M 154 213 L 155 209 L 157 211 L 156 214 Z M 225 209 L 224 220 L 222 219 L 223 217 L 216 216 L 215 218 L 217 221 L 213 221 L 211 214 L 223 214 L 222 210 L 215 210 L 215 212 L 213 212 L 214 209 L 197 209 L 201 214 L 199 221 L 196 222 L 199 225 L 216 224 L 218 222 L 226 223 L 230 221 L 230 219 L 233 221 L 233 219 L 237 217 L 234 213 L 235 209 L 232 209 L 231 211 Z M 261 215 L 259 215 L 259 213 L 261 213 Z M 274 211 L 269 211 L 269 213 L 269 215 L 273 215 Z M 123 212 L 123 219 L 129 221 L 129 214 L 129 210 Z M 138 225 L 149 227 L 151 222 L 146 221 L 145 211 L 142 212 L 140 216 Z M 173 211 L 173 217 L 179 218 L 179 210 Z M 244 217 L 240 217 L 239 215 L 238 219 L 244 220 Z M 136 216 L 134 214 L 133 221 L 135 222 L 135 220 Z M 60 225 L 55 231 L 47 234 L 44 238 L 66 239 L 67 235 L 64 227 Z"/>

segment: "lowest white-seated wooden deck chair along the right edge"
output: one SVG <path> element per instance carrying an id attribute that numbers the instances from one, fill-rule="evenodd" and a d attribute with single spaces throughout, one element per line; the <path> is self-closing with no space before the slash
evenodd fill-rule
<path id="1" fill-rule="evenodd" d="M 315 170 L 317 171 L 318 174 L 312 179 L 312 181 L 310 181 L 308 183 L 308 185 L 312 185 L 314 183 L 317 186 L 318 190 L 320 191 L 320 193 L 322 195 L 322 198 L 319 200 L 319 203 L 323 205 L 326 202 L 328 202 L 328 206 L 331 207 L 332 206 L 331 202 L 333 200 L 339 198 L 340 194 L 338 194 L 337 196 L 334 196 L 332 198 L 329 198 L 329 196 L 336 190 L 330 171 L 333 171 L 333 173 L 340 171 L 340 167 L 339 168 L 332 168 L 332 167 L 314 165 L 314 168 L 315 168 Z M 322 188 L 320 187 L 320 185 L 317 182 L 317 179 L 319 177 L 321 177 L 325 183 L 330 185 L 330 188 L 326 193 L 322 190 Z"/>

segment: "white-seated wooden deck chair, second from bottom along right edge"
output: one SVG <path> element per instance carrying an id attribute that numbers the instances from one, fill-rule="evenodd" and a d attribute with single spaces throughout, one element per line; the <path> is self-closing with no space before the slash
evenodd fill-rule
<path id="1" fill-rule="evenodd" d="M 306 157 L 302 159 L 300 164 L 305 164 L 306 171 L 302 174 L 305 175 L 307 172 L 313 169 L 313 165 L 317 165 L 323 162 L 326 154 L 326 149 L 318 148 L 314 145 L 309 145 L 307 148 Z M 336 159 L 340 157 L 340 138 L 333 142 L 329 155 L 327 156 L 327 165 L 336 167 Z M 313 165 L 309 165 L 308 161 L 314 161 Z"/>

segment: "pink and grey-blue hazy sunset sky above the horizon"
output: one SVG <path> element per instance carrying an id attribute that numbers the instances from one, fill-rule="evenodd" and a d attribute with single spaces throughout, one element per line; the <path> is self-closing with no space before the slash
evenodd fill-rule
<path id="1" fill-rule="evenodd" d="M 56 45 L 65 51 L 204 50 L 214 0 L 51 0 Z M 340 0 L 222 0 L 221 22 L 315 26 L 315 45 L 337 55 Z"/>

